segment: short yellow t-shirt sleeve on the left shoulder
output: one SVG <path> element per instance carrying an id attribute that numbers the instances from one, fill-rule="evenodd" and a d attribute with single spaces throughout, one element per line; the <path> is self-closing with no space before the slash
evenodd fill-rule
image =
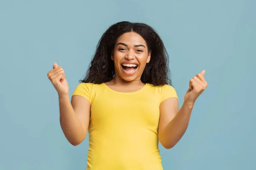
<path id="1" fill-rule="evenodd" d="M 82 96 L 84 98 L 86 98 L 87 100 L 89 100 L 89 102 L 91 103 L 91 91 L 93 88 L 93 84 L 92 83 L 80 83 L 75 91 L 73 92 L 72 96 L 74 95 L 79 95 Z"/>

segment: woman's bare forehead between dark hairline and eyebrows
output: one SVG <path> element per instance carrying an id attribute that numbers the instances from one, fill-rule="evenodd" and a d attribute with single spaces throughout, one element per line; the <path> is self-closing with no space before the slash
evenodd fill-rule
<path id="1" fill-rule="evenodd" d="M 140 34 L 137 34 L 136 32 L 127 32 L 125 34 L 122 34 L 116 41 L 116 44 L 122 42 L 127 45 L 145 45 L 146 41 L 143 39 L 143 37 L 140 36 Z"/>

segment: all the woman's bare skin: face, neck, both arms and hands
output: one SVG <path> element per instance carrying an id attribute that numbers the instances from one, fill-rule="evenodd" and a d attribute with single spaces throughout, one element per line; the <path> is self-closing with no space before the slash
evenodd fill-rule
<path id="1" fill-rule="evenodd" d="M 137 33 L 128 32 L 119 37 L 113 49 L 111 59 L 115 65 L 116 76 L 105 82 L 109 88 L 120 92 L 132 92 L 142 88 L 145 84 L 140 77 L 145 65 L 150 62 L 151 52 L 148 51 L 145 40 Z M 122 62 L 136 62 L 139 66 L 135 74 L 128 76 L 122 70 Z M 160 104 L 160 120 L 158 127 L 159 141 L 166 149 L 177 144 L 185 133 L 192 108 L 196 99 L 207 88 L 204 79 L 205 71 L 195 75 L 189 82 L 189 89 L 184 96 L 184 102 L 178 110 L 178 100 L 169 98 Z M 71 102 L 69 88 L 63 68 L 56 63 L 48 72 L 48 78 L 52 82 L 59 96 L 60 123 L 67 140 L 73 144 L 80 144 L 88 130 L 90 120 L 90 102 L 84 97 L 74 95 Z"/>

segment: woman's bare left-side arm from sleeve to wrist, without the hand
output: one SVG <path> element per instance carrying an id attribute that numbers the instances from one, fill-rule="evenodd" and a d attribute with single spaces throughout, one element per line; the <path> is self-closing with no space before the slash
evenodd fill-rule
<path id="1" fill-rule="evenodd" d="M 74 146 L 80 144 L 90 120 L 90 102 L 82 96 L 59 96 L 60 123 L 67 140 Z"/>

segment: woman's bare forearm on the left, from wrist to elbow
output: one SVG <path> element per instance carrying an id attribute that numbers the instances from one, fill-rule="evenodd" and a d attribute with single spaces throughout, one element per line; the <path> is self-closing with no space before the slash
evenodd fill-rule
<path id="1" fill-rule="evenodd" d="M 67 140 L 78 145 L 84 140 L 86 132 L 71 105 L 69 96 L 59 96 L 60 123 Z"/>

